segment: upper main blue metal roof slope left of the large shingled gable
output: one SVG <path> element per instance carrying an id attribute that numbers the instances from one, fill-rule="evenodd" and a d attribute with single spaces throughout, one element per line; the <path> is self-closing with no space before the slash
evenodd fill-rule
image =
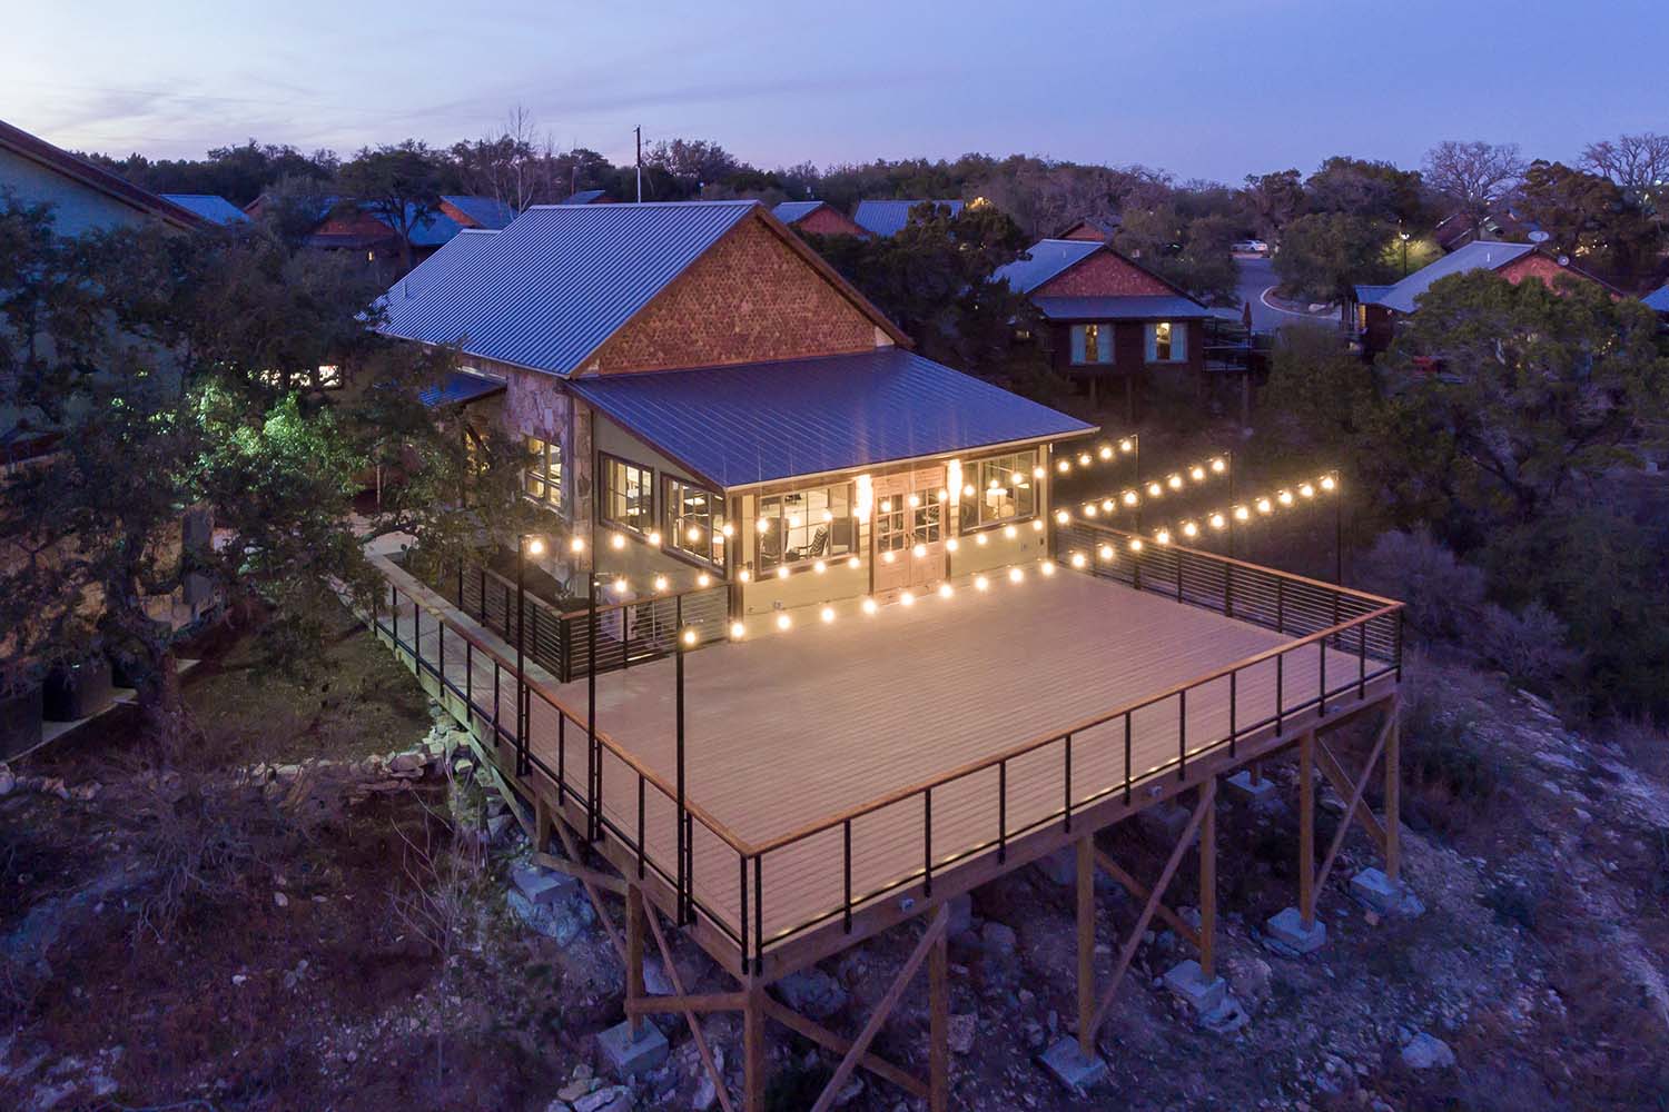
<path id="1" fill-rule="evenodd" d="M 382 332 L 569 375 L 754 208 L 534 205 L 502 232 L 459 235 L 396 282 Z"/>

